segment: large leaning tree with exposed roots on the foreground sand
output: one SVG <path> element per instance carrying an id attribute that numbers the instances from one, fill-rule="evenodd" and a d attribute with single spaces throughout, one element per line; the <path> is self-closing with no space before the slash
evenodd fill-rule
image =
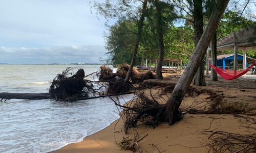
<path id="1" fill-rule="evenodd" d="M 166 104 L 160 105 L 156 100 L 154 100 L 153 96 L 153 100 L 145 99 L 143 93 L 138 94 L 138 97 L 140 97 L 141 101 L 139 101 L 138 104 L 134 107 L 122 107 L 116 103 L 116 105 L 124 109 L 133 111 L 131 114 L 126 115 L 130 116 L 129 120 L 126 120 L 125 122 L 126 129 L 133 127 L 137 124 L 138 120 L 143 120 L 145 117 L 151 117 L 153 123 L 164 121 L 168 122 L 169 125 L 172 125 L 181 119 L 182 114 L 179 112 L 180 104 L 185 96 L 185 93 L 189 89 L 191 82 L 193 81 L 198 67 L 201 64 L 201 59 L 204 57 L 211 39 L 214 36 L 216 29 L 218 28 L 221 16 L 225 11 L 228 2 L 228 0 L 217 1 L 215 8 L 212 10 L 207 27 L 204 30 L 200 40 L 198 41 L 193 55 L 191 56 L 190 61 L 188 62 L 188 65 L 184 70 L 180 80 L 176 84 L 169 99 L 166 101 Z M 126 112 L 130 113 L 129 111 Z"/>

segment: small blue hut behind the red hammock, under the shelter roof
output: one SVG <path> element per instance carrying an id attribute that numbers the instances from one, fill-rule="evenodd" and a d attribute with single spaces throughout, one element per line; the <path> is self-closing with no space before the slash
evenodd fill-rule
<path id="1" fill-rule="evenodd" d="M 244 56 L 241 54 L 238 54 L 237 57 L 238 69 L 243 69 L 243 63 L 246 63 L 246 68 L 250 66 L 251 63 L 254 63 L 256 59 L 246 57 L 246 61 L 244 62 Z M 209 59 L 211 62 L 211 59 Z M 217 56 L 217 67 L 224 68 L 224 69 L 233 69 L 233 62 L 234 62 L 234 54 L 224 54 L 224 55 L 218 55 Z"/>

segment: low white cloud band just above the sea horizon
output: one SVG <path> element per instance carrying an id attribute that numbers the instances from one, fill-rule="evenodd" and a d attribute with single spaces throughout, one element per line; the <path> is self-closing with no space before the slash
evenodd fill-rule
<path id="1" fill-rule="evenodd" d="M 0 47 L 0 63 L 99 63 L 100 57 L 107 57 L 105 53 L 101 45 Z"/>

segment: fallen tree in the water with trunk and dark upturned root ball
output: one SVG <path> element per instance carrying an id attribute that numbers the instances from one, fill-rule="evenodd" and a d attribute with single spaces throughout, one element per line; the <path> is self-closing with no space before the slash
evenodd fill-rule
<path id="1" fill-rule="evenodd" d="M 76 100 L 77 98 L 89 98 L 97 93 L 92 81 L 84 80 L 83 69 L 78 69 L 75 74 L 68 67 L 62 73 L 57 74 L 49 88 L 48 93 L 0 93 L 0 99 L 55 99 Z M 72 75 L 73 74 L 73 75 Z M 91 75 L 91 74 L 89 74 Z"/>

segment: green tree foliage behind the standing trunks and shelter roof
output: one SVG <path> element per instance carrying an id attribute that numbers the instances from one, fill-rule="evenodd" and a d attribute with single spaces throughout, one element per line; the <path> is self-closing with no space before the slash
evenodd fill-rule
<path id="1" fill-rule="evenodd" d="M 118 21 L 114 25 L 108 27 L 108 33 L 104 36 L 106 40 L 106 48 L 109 50 L 108 54 L 114 65 L 130 63 L 137 36 L 137 15 L 140 14 L 141 11 L 138 6 L 140 6 L 141 3 L 139 1 L 128 0 L 111 0 L 106 2 L 108 3 L 105 5 L 95 5 L 97 6 L 99 13 L 103 14 L 106 18 L 118 18 Z M 142 37 L 135 65 L 140 64 L 142 59 L 158 58 L 155 1 L 148 2 L 149 4 L 145 14 Z M 165 58 L 182 59 L 184 63 L 187 63 L 194 49 L 194 28 L 191 24 L 191 20 L 193 20 L 193 17 L 191 17 L 193 1 L 189 0 L 187 3 L 184 3 L 183 1 L 173 1 L 173 3 L 170 3 L 169 1 L 160 2 L 162 10 L 162 28 L 164 32 Z M 204 4 L 204 20 L 206 25 L 212 9 L 211 5 L 215 4 L 215 0 L 204 1 Z M 184 10 L 187 10 L 188 13 L 185 13 L 185 16 L 184 14 L 182 15 L 182 13 L 178 12 L 177 5 L 183 12 Z M 176 12 L 174 10 L 176 10 Z M 179 16 L 177 14 L 179 14 Z M 175 27 L 173 21 L 180 18 L 186 19 L 185 25 L 183 27 Z M 253 24 L 255 25 L 256 22 L 248 20 L 243 16 L 241 17 L 240 13 L 227 11 L 224 13 L 217 30 L 217 39 L 242 28 L 250 27 Z M 229 53 L 233 53 L 233 50 L 219 52 L 219 54 Z M 239 54 L 242 54 L 242 51 L 239 51 Z M 256 58 L 256 50 L 247 51 L 247 56 Z"/>

